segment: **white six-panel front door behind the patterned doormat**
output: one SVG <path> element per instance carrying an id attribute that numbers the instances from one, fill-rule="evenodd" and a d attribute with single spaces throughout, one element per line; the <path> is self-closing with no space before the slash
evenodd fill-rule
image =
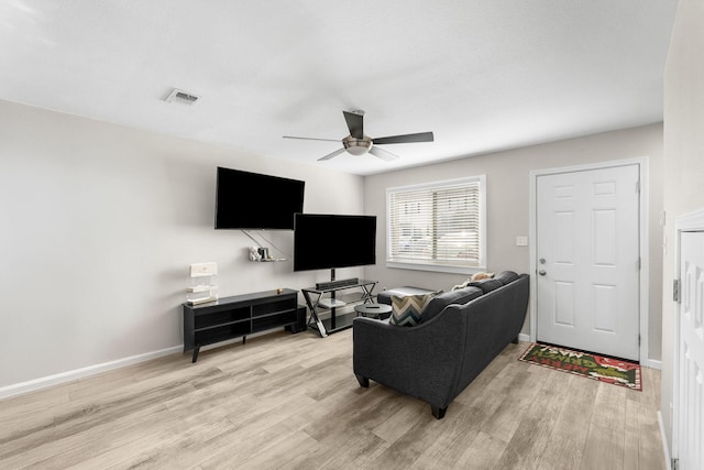
<path id="1" fill-rule="evenodd" d="M 639 359 L 639 166 L 538 176 L 538 341 Z"/>

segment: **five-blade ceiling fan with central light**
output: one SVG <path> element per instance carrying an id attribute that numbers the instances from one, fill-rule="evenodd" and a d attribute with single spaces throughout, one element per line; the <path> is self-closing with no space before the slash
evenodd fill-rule
<path id="1" fill-rule="evenodd" d="M 342 111 L 344 120 L 348 123 L 350 135 L 340 140 L 336 139 L 316 139 L 316 138 L 297 138 L 292 135 L 284 135 L 284 139 L 301 139 L 314 141 L 329 141 L 329 142 L 342 142 L 343 147 L 338 149 L 332 153 L 327 154 L 318 159 L 318 161 L 330 160 L 338 156 L 342 152 L 351 153 L 352 155 L 363 155 L 371 153 L 385 161 L 392 161 L 398 159 L 398 155 L 391 153 L 386 150 L 380 149 L 376 145 L 385 145 L 392 143 L 413 143 L 413 142 L 432 142 L 432 132 L 419 132 L 415 134 L 391 135 L 386 138 L 372 139 L 364 134 L 364 111 Z"/>

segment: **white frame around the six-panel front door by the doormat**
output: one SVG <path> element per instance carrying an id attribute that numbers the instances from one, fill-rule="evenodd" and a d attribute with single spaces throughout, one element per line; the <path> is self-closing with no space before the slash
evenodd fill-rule
<path id="1" fill-rule="evenodd" d="M 563 166 L 558 168 L 546 168 L 546 170 L 534 170 L 529 173 L 530 178 L 530 189 L 529 189 L 529 248 L 530 248 L 530 341 L 535 342 L 538 332 L 538 293 L 537 293 L 537 218 L 538 218 L 538 177 L 539 176 L 548 176 L 548 175 L 557 175 L 561 173 L 575 173 L 575 172 L 586 172 L 592 170 L 606 170 L 606 168 L 615 168 L 619 166 L 629 166 L 629 165 L 638 165 L 638 175 L 640 181 L 640 194 L 639 194 L 639 256 L 640 256 L 640 273 L 639 273 L 639 285 L 640 292 L 638 293 L 638 309 L 639 309 L 639 331 L 640 335 L 640 347 L 639 347 L 639 362 L 642 365 L 654 367 L 659 369 L 659 365 L 656 363 L 650 363 L 650 359 L 648 356 L 648 321 L 649 321 L 649 273 L 650 273 L 650 256 L 649 256 L 649 247 L 650 240 L 648 237 L 649 231 L 649 220 L 648 220 L 648 159 L 647 157 L 637 157 L 637 159 L 626 159 L 626 160 L 615 160 L 615 161 L 606 161 L 606 162 L 596 162 L 588 163 L 585 165 L 575 165 L 575 166 Z"/>

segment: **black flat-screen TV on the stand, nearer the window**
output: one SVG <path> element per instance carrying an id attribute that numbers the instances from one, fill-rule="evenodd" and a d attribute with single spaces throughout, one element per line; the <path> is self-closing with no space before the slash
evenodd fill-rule
<path id="1" fill-rule="evenodd" d="M 376 217 L 296 214 L 294 271 L 376 264 Z"/>

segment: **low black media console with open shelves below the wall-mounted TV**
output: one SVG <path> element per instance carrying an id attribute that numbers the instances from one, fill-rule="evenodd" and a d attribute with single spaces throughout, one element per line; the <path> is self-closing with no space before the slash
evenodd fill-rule
<path id="1" fill-rule="evenodd" d="M 306 307 L 298 307 L 298 291 L 290 288 L 223 297 L 208 304 L 184 304 L 184 352 L 198 360 L 201 346 L 286 327 L 306 329 Z"/>

